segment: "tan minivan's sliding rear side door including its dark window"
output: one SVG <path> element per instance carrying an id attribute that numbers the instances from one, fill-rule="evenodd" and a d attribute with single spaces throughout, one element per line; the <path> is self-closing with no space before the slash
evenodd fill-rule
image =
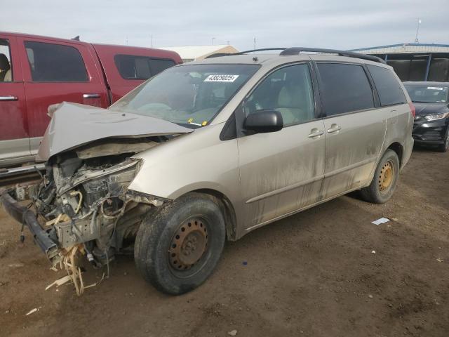
<path id="1" fill-rule="evenodd" d="M 323 199 L 349 192 L 370 180 L 384 142 L 389 110 L 378 107 L 361 64 L 317 62 L 326 129 Z"/>

